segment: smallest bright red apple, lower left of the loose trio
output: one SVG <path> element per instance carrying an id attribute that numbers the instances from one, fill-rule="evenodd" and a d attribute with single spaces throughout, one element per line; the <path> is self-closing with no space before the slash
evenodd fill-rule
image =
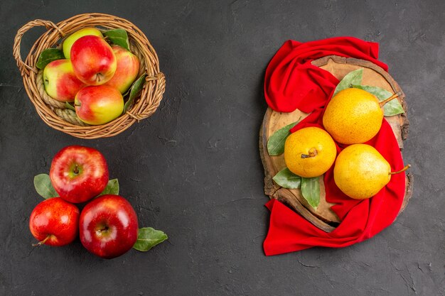
<path id="1" fill-rule="evenodd" d="M 79 225 L 79 209 L 60 197 L 45 199 L 31 212 L 29 229 L 40 241 L 35 246 L 65 246 L 74 241 Z"/>

